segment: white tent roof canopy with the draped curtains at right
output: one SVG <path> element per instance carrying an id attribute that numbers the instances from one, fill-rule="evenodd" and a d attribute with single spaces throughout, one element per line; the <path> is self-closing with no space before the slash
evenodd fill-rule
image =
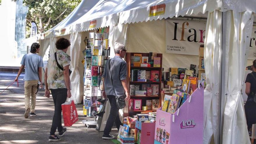
<path id="1" fill-rule="evenodd" d="M 165 4 L 165 12 L 162 15 L 150 17 L 150 6 L 159 4 Z M 209 65 L 205 65 L 205 70 L 206 77 L 209 79 L 207 79 L 207 89 L 205 91 L 204 143 L 209 143 L 212 135 L 214 135 L 215 143 L 217 143 L 220 131 L 219 119 L 221 121 L 230 121 L 231 123 L 224 123 L 224 137 L 220 141 L 229 144 L 248 143 L 246 122 L 243 115 L 244 110 L 241 93 L 239 92 L 242 81 L 240 78 L 243 72 L 232 71 L 232 67 L 237 67 L 239 70 L 245 69 L 243 61 L 246 57 L 242 54 L 247 52 L 245 50 L 246 44 L 244 43 L 248 43 L 248 40 L 245 40 L 244 37 L 251 33 L 251 29 L 246 29 L 244 26 L 252 26 L 253 13 L 256 13 L 255 0 L 100 0 L 79 19 L 66 27 L 58 26 L 58 29 L 54 30 L 53 33 L 46 34 L 49 37 L 56 37 L 74 33 L 72 36 L 74 40 L 71 42 L 79 46 L 81 43 L 81 38 L 79 38 L 81 34 L 79 32 L 110 26 L 109 44 L 110 47 L 113 47 L 117 42 L 126 43 L 127 26 L 131 23 L 166 19 L 180 15 L 198 15 L 206 12 L 208 12 L 208 32 L 206 34 L 207 43 L 205 44 L 205 49 L 209 53 L 205 55 L 205 58 L 206 63 L 209 63 Z M 228 17 L 223 17 L 221 12 L 227 12 Z M 221 21 L 218 21 L 217 18 L 221 19 Z M 237 19 L 241 21 L 236 21 Z M 89 29 L 90 22 L 94 20 L 96 20 L 96 26 Z M 223 32 L 222 26 L 229 29 Z M 65 29 L 64 33 L 63 29 Z M 239 33 L 242 33 L 242 35 L 239 35 Z M 234 40 L 225 39 L 227 35 L 228 38 L 234 38 Z M 233 47 L 234 44 L 237 47 Z M 75 50 L 74 47 L 72 50 Z M 218 54 L 216 53 L 217 51 L 219 52 Z M 234 65 L 235 63 L 232 62 L 234 61 L 232 52 L 237 56 L 237 60 L 241 61 L 239 66 Z M 225 54 L 227 59 L 223 59 L 221 57 L 222 54 Z M 226 65 L 226 67 L 223 67 L 223 65 Z M 213 73 L 212 70 L 218 70 L 218 72 Z M 225 70 L 228 73 L 223 72 Z M 218 76 L 223 79 L 219 81 L 220 78 Z M 239 79 L 236 79 L 237 77 Z M 236 80 L 232 81 L 232 79 Z M 219 97 L 222 99 L 220 100 Z M 223 103 L 220 103 L 221 101 Z M 225 111 L 223 110 L 219 114 L 220 107 Z"/>

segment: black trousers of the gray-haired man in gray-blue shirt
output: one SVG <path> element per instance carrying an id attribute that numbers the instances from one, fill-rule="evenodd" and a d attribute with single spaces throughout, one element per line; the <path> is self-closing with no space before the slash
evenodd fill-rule
<path id="1" fill-rule="evenodd" d="M 104 134 L 109 135 L 113 124 L 115 122 L 116 128 L 119 129 L 120 125 L 122 125 L 122 122 L 120 121 L 119 118 L 119 109 L 116 107 L 116 102 L 115 102 L 115 96 L 114 95 L 107 95 L 109 103 L 111 105 L 110 113 L 109 113 L 109 118 L 106 122 L 106 127 L 104 129 Z"/>

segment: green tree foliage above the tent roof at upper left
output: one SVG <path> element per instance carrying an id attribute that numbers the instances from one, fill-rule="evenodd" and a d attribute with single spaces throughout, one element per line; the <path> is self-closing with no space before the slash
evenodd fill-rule
<path id="1" fill-rule="evenodd" d="M 23 5 L 29 7 L 26 25 L 30 29 L 31 22 L 34 21 L 38 32 L 43 33 L 65 19 L 80 2 L 81 0 L 23 0 Z M 28 29 L 27 36 L 30 35 Z"/>

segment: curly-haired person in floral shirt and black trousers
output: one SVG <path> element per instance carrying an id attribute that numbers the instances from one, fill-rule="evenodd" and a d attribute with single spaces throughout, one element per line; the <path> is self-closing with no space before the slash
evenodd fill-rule
<path id="1" fill-rule="evenodd" d="M 55 45 L 58 51 L 49 57 L 45 70 L 45 97 L 50 97 L 49 90 L 51 90 L 54 101 L 54 116 L 48 138 L 49 141 L 61 140 L 59 137 L 63 136 L 67 131 L 67 128 L 63 128 L 61 124 L 61 104 L 71 97 L 69 77 L 70 56 L 66 54 L 70 41 L 61 38 L 57 40 Z M 55 135 L 57 128 L 59 137 Z"/>

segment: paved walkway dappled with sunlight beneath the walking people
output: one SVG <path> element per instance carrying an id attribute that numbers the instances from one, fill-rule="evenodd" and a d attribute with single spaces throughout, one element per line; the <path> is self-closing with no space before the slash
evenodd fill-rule
<path id="1" fill-rule="evenodd" d="M 17 73 L 0 72 L 0 93 L 10 85 Z M 68 127 L 61 141 L 48 142 L 54 103 L 52 98 L 44 97 L 44 91 L 39 91 L 36 98 L 36 117 L 24 118 L 24 81 L 23 75 L 17 83 L 10 86 L 0 95 L 0 143 L 1 144 L 32 144 L 32 143 L 85 143 L 85 144 L 113 144 L 101 138 L 102 132 L 94 128 L 86 128 L 82 124 L 85 118 L 82 115 L 83 105 L 77 105 L 79 121 Z M 63 123 L 63 122 L 62 122 Z M 57 133 L 56 133 L 57 134 Z M 117 136 L 117 129 L 112 129 L 111 134 Z"/>

